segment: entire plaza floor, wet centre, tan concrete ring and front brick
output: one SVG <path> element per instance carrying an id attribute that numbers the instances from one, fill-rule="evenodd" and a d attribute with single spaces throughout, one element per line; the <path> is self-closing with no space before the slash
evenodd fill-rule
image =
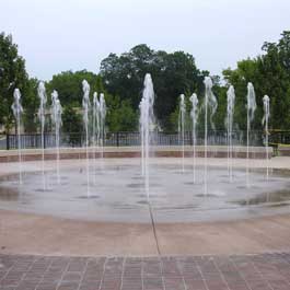
<path id="1" fill-rule="evenodd" d="M 89 162 L 91 171 L 94 162 Z M 243 192 L 246 162 L 235 159 L 233 176 L 240 179 L 236 186 L 242 192 L 241 197 L 232 198 L 229 195 L 236 195 L 236 190 L 222 182 L 224 172 L 221 179 L 210 178 L 214 170 L 227 167 L 227 159 L 209 159 L 213 171 L 209 170 L 208 196 L 198 192 L 204 188 L 200 171 L 196 176 L 200 188 L 196 187 L 198 193 L 190 201 L 192 163 L 192 159 L 185 159 L 184 174 L 179 159 L 152 160 L 151 172 L 159 166 L 161 173 L 150 181 L 151 207 L 138 202 L 146 200 L 137 176 L 139 159 L 97 161 L 96 177 L 121 192 L 128 189 L 128 196 L 121 195 L 120 200 L 118 193 L 109 196 L 113 187 L 104 187 L 100 179 L 95 187 L 92 172 L 89 192 L 86 177 L 78 177 L 68 190 L 70 177 L 66 174 L 77 171 L 86 176 L 86 161 L 82 159 L 60 162 L 62 199 L 55 196 L 58 178 L 54 160 L 45 161 L 44 190 L 42 161 L 22 165 L 21 186 L 16 185 L 18 162 L 0 163 L 0 289 L 290 289 L 290 159 L 272 158 L 268 179 L 265 160 L 251 160 L 253 195 Z M 116 177 L 112 170 L 116 166 L 123 179 L 126 174 L 132 176 L 126 179 L 129 186 Z M 202 169 L 204 159 L 197 160 L 197 166 Z M 169 187 L 164 187 L 162 169 L 172 170 L 170 174 L 178 176 L 175 181 L 183 185 L 169 181 Z M 102 193 L 109 198 L 104 199 Z M 66 201 L 67 210 L 62 207 Z"/>

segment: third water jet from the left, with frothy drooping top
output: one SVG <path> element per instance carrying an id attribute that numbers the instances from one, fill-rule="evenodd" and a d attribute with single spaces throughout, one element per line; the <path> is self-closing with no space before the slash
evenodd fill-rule
<path id="1" fill-rule="evenodd" d="M 51 121 L 55 127 L 55 138 L 56 138 L 56 153 L 57 153 L 57 179 L 60 183 L 59 175 L 59 131 L 62 125 L 61 120 L 62 107 L 58 98 L 58 93 L 56 90 L 51 93 Z"/>

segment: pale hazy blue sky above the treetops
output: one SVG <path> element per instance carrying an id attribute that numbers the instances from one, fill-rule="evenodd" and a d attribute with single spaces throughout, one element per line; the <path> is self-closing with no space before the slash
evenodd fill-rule
<path id="1" fill-rule="evenodd" d="M 290 30 L 289 0 L 0 0 L 0 32 L 12 34 L 31 77 L 98 72 L 109 53 L 138 44 L 192 54 L 221 74 L 262 54 Z"/>

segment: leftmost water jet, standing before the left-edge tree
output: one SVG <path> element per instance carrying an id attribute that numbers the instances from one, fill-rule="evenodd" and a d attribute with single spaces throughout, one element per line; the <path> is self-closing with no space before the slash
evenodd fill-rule
<path id="1" fill-rule="evenodd" d="M 14 90 L 13 93 L 13 98 L 14 102 L 11 106 L 13 115 L 16 120 L 16 131 L 18 131 L 18 153 L 19 153 L 19 183 L 22 184 L 22 158 L 21 158 L 21 135 L 20 135 L 20 129 L 21 129 L 21 116 L 23 113 L 23 107 L 21 105 L 21 93 L 19 89 Z"/>

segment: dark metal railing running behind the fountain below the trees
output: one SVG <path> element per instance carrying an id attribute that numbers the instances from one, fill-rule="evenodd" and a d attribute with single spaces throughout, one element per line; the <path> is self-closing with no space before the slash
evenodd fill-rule
<path id="1" fill-rule="evenodd" d="M 196 144 L 204 144 L 204 131 L 197 132 Z M 270 141 L 271 141 L 270 136 Z M 290 131 L 288 135 L 282 137 L 279 135 L 275 138 L 280 138 L 279 140 L 288 141 L 290 143 Z M 246 132 L 243 130 L 233 131 L 232 134 L 233 144 L 243 146 L 246 144 Z M 252 131 L 250 135 L 251 146 L 263 146 L 264 134 L 262 131 Z M 84 135 L 81 132 L 60 135 L 60 147 L 83 147 L 84 146 Z M 51 132 L 46 132 L 44 135 L 44 147 L 54 148 L 56 138 Z M 181 146 L 181 139 L 177 132 L 153 132 L 151 142 L 155 146 Z M 193 144 L 193 135 L 190 131 L 185 132 L 184 138 L 185 146 Z M 90 144 L 92 144 L 92 138 L 90 139 Z M 209 130 L 208 131 L 208 144 L 209 146 L 225 146 L 227 144 L 227 131 L 223 130 Z M 140 146 L 140 135 L 139 132 L 107 132 L 104 140 L 104 146 L 106 147 L 129 147 L 129 146 Z M 18 135 L 2 135 L 0 136 L 0 149 L 10 150 L 18 148 Z M 42 136 L 40 134 L 22 134 L 21 135 L 21 148 L 33 149 L 42 148 Z"/>

